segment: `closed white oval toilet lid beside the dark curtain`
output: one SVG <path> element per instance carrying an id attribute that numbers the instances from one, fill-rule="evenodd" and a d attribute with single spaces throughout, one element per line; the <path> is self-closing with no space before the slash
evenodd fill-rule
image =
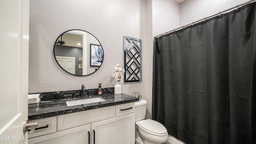
<path id="1" fill-rule="evenodd" d="M 138 122 L 138 124 L 145 130 L 156 134 L 165 134 L 167 132 L 166 128 L 162 124 L 154 120 L 141 120 Z"/>

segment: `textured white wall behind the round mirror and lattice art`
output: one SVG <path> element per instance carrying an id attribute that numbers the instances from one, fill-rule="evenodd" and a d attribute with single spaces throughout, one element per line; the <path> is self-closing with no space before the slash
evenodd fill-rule
<path id="1" fill-rule="evenodd" d="M 53 46 L 62 32 L 81 29 L 93 34 L 104 49 L 101 68 L 89 76 L 73 76 L 55 61 Z M 142 39 L 146 52 L 144 0 L 30 0 L 29 93 L 114 87 L 114 66 L 124 68 L 123 36 Z M 145 54 L 142 56 L 145 58 Z M 143 62 L 146 59 L 143 58 Z M 142 75 L 145 78 L 145 67 Z M 145 95 L 145 79 L 122 83 L 122 93 Z"/>

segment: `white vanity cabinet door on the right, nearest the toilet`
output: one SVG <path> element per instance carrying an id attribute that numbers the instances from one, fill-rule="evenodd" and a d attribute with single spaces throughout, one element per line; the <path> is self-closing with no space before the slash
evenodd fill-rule
<path id="1" fill-rule="evenodd" d="M 91 144 L 134 144 L 135 114 L 94 122 L 91 133 Z"/>

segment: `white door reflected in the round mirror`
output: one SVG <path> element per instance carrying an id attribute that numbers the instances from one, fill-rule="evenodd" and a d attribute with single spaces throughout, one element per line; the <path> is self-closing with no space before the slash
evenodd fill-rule
<path id="1" fill-rule="evenodd" d="M 55 56 L 60 66 L 69 72 L 70 74 L 76 75 L 76 58 L 67 56 Z"/>

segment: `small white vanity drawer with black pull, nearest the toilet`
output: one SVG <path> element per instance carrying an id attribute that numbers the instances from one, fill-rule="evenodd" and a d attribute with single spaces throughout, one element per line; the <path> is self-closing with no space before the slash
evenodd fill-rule
<path id="1" fill-rule="evenodd" d="M 132 112 L 135 112 L 135 102 L 116 105 L 116 116 L 122 116 Z"/>

